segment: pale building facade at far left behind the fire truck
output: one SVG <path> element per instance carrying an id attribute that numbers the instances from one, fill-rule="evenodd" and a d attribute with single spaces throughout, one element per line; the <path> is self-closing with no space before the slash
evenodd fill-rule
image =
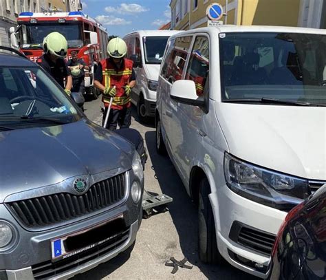
<path id="1" fill-rule="evenodd" d="M 67 0 L 1 0 L 0 1 L 0 45 L 10 46 L 9 28 L 16 26 L 21 12 L 43 12 L 49 9 L 65 11 Z"/>

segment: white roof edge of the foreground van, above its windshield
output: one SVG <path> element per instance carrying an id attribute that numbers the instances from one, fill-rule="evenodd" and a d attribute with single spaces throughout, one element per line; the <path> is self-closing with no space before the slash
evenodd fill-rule
<path id="1" fill-rule="evenodd" d="M 186 34 L 194 33 L 208 33 L 211 35 L 228 32 L 279 32 L 279 33 L 304 33 L 304 34 L 321 34 L 326 35 L 326 30 L 316 28 L 296 28 L 289 26 L 265 26 L 265 25 L 220 25 L 217 27 L 209 28 L 195 28 L 186 30 L 175 36 L 184 36 Z"/>

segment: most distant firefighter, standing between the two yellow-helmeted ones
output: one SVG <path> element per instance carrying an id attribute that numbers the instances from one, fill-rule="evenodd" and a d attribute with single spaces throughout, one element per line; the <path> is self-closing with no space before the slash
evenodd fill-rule
<path id="1" fill-rule="evenodd" d="M 85 94 L 85 70 L 89 71 L 89 66 L 86 65 L 83 58 L 78 58 L 76 50 L 70 52 L 72 59 L 67 62 L 67 67 L 72 73 L 72 91 Z"/>

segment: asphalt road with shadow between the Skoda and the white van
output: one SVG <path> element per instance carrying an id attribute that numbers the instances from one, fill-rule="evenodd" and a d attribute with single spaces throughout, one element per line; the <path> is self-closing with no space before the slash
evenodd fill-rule
<path id="1" fill-rule="evenodd" d="M 85 103 L 87 117 L 100 123 L 100 98 Z M 74 279 L 257 279 L 233 268 L 208 266 L 197 255 L 197 208 L 188 197 L 175 168 L 168 157 L 155 151 L 154 122 L 142 125 L 135 118 L 133 108 L 132 125 L 144 138 L 149 159 L 145 168 L 145 189 L 154 193 L 165 193 L 173 197 L 169 211 L 157 213 L 143 219 L 132 252 L 122 252 L 107 263 L 79 274 Z M 191 270 L 164 266 L 170 257 L 188 259 Z"/>

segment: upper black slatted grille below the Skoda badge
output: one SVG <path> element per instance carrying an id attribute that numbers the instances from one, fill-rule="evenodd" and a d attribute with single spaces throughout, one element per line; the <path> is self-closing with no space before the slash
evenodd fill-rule
<path id="1" fill-rule="evenodd" d="M 56 193 L 10 202 L 6 205 L 14 217 L 30 228 L 50 226 L 94 213 L 120 202 L 126 193 L 124 174 L 92 185 L 83 195 Z"/>

